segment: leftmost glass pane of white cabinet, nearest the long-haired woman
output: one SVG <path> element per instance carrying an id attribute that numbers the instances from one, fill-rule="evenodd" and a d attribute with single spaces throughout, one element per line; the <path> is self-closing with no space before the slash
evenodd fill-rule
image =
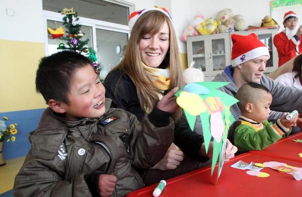
<path id="1" fill-rule="evenodd" d="M 206 71 L 205 41 L 193 41 L 192 52 L 193 61 L 195 61 L 194 68 Z M 190 64 L 191 62 L 188 63 Z"/>

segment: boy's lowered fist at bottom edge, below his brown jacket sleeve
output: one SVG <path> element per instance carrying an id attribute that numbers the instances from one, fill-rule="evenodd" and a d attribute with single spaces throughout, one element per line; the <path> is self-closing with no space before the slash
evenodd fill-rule
<path id="1" fill-rule="evenodd" d="M 100 174 L 98 178 L 98 188 L 100 196 L 109 197 L 115 187 L 116 177 L 110 174 Z"/>

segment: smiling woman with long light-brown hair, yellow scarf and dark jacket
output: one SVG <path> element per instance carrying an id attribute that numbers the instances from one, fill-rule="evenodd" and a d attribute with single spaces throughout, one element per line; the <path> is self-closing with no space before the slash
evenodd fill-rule
<path id="1" fill-rule="evenodd" d="M 123 108 L 141 121 L 165 93 L 176 86 L 184 86 L 184 81 L 168 11 L 144 9 L 132 13 L 129 18 L 132 30 L 125 57 L 108 74 L 104 85 L 113 107 Z M 197 169 L 203 166 L 200 162 L 212 157 L 213 144 L 210 143 L 206 154 L 203 136 L 190 130 L 181 108 L 173 114 L 173 119 L 174 143 L 152 169 L 141 171 L 145 185 Z M 234 157 L 236 151 L 237 148 L 228 142 L 226 159 Z"/>

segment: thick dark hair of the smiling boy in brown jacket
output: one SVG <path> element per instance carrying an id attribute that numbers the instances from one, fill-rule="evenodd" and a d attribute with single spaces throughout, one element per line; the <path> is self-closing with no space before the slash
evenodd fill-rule
<path id="1" fill-rule="evenodd" d="M 90 59 L 73 51 L 61 51 L 43 57 L 36 73 L 36 92 L 41 93 L 46 104 L 49 99 L 69 104 L 67 93 L 77 69 L 92 66 Z"/>

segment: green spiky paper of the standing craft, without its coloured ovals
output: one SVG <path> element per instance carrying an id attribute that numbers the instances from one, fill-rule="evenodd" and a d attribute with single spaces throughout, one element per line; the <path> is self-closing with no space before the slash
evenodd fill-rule
<path id="1" fill-rule="evenodd" d="M 228 130 L 229 130 L 230 125 L 235 121 L 232 113 L 230 112 L 230 106 L 235 104 L 236 102 L 238 102 L 237 99 L 230 96 L 229 94 L 216 90 L 219 87 L 227 85 L 228 83 L 229 82 L 196 82 L 196 84 L 207 87 L 210 91 L 210 93 L 207 95 L 198 95 L 203 99 L 204 102 L 205 102 L 206 98 L 208 98 L 208 97 L 218 97 L 224 105 L 223 110 L 222 110 L 222 119 L 223 119 L 225 128 L 224 128 L 224 133 L 222 134 L 223 135 L 222 140 L 220 140 L 220 142 L 217 142 L 214 139 L 214 142 L 213 142 L 213 157 L 212 157 L 211 173 L 213 174 L 216 162 L 219 158 L 217 179 L 219 178 L 220 172 L 223 167 L 223 162 L 224 162 L 223 157 L 225 157 L 225 155 L 222 155 L 223 154 L 223 143 L 226 142 L 226 140 L 227 140 Z M 175 93 L 175 96 L 179 97 L 180 93 L 183 91 L 184 91 L 184 87 L 182 87 L 182 89 L 180 89 L 177 93 Z M 197 104 L 197 103 L 189 103 L 189 104 Z M 217 104 L 216 101 L 215 101 L 215 104 Z M 196 116 L 189 114 L 185 109 L 184 109 L 184 112 L 185 112 L 185 115 L 186 115 L 186 118 L 188 120 L 191 130 L 193 130 L 194 126 L 195 126 L 195 122 L 196 122 Z M 201 120 L 201 124 L 202 124 L 202 128 L 203 128 L 205 148 L 206 148 L 206 152 L 208 152 L 209 144 L 212 139 L 212 134 L 211 134 L 211 130 L 210 130 L 211 129 L 211 125 L 210 125 L 210 116 L 211 115 L 207 109 L 206 112 L 201 113 L 199 116 L 200 116 L 200 120 Z"/>

